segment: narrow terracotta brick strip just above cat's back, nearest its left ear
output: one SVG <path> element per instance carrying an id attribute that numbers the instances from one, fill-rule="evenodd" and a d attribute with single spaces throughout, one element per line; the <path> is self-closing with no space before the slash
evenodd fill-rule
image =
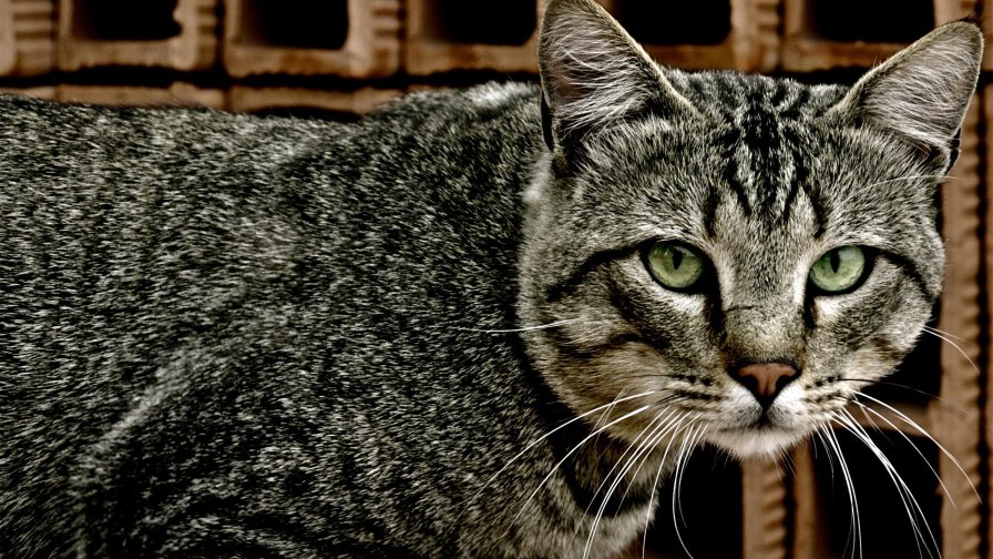
<path id="1" fill-rule="evenodd" d="M 238 112 L 259 112 L 295 106 L 362 114 L 402 94 L 399 90 L 362 88 L 356 91 L 324 91 L 303 88 L 231 89 L 229 108 Z"/>

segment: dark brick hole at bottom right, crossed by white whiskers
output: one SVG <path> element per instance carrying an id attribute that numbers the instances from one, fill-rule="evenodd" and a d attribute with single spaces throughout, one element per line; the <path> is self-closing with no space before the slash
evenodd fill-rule
<path id="1" fill-rule="evenodd" d="M 903 478 L 911 495 L 917 499 L 928 526 L 934 533 L 938 546 L 940 546 L 941 492 L 934 474 L 931 471 L 931 468 L 938 470 L 938 448 L 933 443 L 921 437 L 910 437 L 911 445 L 893 431 L 874 433 L 871 428 L 867 428 L 867 430 L 871 433 L 870 438 Z M 921 524 L 925 541 L 919 541 L 908 518 L 903 500 L 879 459 L 853 435 L 844 431 L 836 433 L 854 485 L 862 535 L 862 556 L 938 557 L 939 549 L 935 549 L 934 542 L 930 541 L 930 536 L 921 522 L 920 515 L 915 517 L 915 520 Z M 921 458 L 918 450 L 924 458 Z M 823 499 L 821 504 L 826 509 L 818 517 L 827 524 L 830 557 L 851 557 L 853 545 L 851 540 L 852 507 L 840 471 L 839 460 L 831 455 L 832 465 L 820 443 L 817 444 L 815 453 L 818 491 Z M 913 507 L 912 504 L 908 506 Z M 921 547 L 919 548 L 918 545 Z"/>

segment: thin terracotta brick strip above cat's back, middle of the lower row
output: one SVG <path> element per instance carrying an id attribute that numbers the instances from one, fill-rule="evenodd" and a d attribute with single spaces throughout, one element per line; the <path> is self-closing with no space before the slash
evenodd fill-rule
<path id="1" fill-rule="evenodd" d="M 59 85 L 55 99 L 99 105 L 203 106 L 209 109 L 224 109 L 226 105 L 224 91 L 199 89 L 188 83 L 174 83 L 168 88 Z"/>

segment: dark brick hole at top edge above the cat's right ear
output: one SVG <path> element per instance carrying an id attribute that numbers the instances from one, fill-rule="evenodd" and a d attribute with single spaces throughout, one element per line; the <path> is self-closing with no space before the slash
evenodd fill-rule
<path id="1" fill-rule="evenodd" d="M 934 0 L 810 0 L 808 24 L 829 41 L 905 43 L 934 28 Z"/>

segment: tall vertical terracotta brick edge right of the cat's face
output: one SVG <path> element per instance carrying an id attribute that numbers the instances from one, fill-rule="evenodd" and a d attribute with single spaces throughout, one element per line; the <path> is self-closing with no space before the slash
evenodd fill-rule
<path id="1" fill-rule="evenodd" d="M 941 187 L 942 235 L 948 266 L 941 296 L 938 329 L 941 344 L 941 398 L 929 406 L 931 434 L 961 465 L 939 456 L 944 481 L 941 508 L 942 556 L 979 559 L 982 510 L 974 487 L 981 484 L 982 375 L 979 369 L 983 339 L 980 283 L 983 226 L 981 190 L 980 115 L 976 96 L 962 125 L 961 154 Z M 964 475 L 963 475 L 964 471 Z"/>

